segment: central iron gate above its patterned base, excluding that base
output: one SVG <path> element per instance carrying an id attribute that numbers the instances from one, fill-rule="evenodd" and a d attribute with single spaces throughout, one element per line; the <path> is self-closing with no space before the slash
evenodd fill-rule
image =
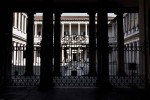
<path id="1" fill-rule="evenodd" d="M 88 37 L 85 35 L 65 35 L 62 38 L 62 76 L 88 75 L 88 43 Z"/>

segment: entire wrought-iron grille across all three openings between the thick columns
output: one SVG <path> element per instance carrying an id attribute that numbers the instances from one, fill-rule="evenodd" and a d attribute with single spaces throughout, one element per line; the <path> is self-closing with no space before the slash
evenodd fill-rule
<path id="1" fill-rule="evenodd" d="M 76 39 L 79 37 L 80 39 Z M 53 77 L 53 82 L 56 87 L 96 86 L 97 77 L 88 76 L 89 54 L 87 41 L 88 38 L 77 35 L 62 38 L 61 54 L 64 54 L 61 56 L 62 59 L 60 62 L 62 76 Z M 71 48 L 70 56 L 69 48 Z M 24 76 L 26 70 L 25 50 L 25 46 L 14 46 L 12 48 L 10 86 L 37 86 L 40 82 L 40 47 L 34 47 L 34 75 L 30 77 Z M 79 53 L 77 52 L 78 50 L 80 50 Z M 84 50 L 87 50 L 86 55 L 82 55 Z M 143 52 L 143 47 L 124 47 L 124 72 L 126 76 L 118 76 L 118 47 L 116 45 L 109 45 L 109 80 L 114 87 L 143 88 L 145 86 L 144 67 L 141 65 L 143 60 L 140 59 L 141 52 Z M 74 58 L 74 53 L 76 53 L 76 58 Z"/>

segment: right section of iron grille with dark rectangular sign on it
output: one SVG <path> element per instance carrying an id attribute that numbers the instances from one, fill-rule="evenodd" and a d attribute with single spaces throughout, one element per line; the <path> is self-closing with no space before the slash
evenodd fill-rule
<path id="1" fill-rule="evenodd" d="M 125 76 L 118 75 L 118 47 L 117 45 L 109 45 L 109 78 L 115 87 L 121 88 L 144 88 L 145 73 L 140 59 L 140 52 L 143 47 L 125 46 L 124 47 L 124 72 Z"/>

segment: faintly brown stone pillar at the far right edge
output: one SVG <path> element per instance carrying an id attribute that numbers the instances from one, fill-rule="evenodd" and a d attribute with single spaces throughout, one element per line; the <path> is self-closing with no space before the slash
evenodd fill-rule
<path id="1" fill-rule="evenodd" d="M 149 89 L 149 79 L 150 79 L 150 38 L 149 38 L 149 23 L 150 23 L 150 1 L 149 0 L 139 0 L 139 46 L 140 46 L 140 67 L 143 70 L 142 73 L 145 75 L 145 87 Z M 148 50 L 149 49 L 149 50 Z"/>

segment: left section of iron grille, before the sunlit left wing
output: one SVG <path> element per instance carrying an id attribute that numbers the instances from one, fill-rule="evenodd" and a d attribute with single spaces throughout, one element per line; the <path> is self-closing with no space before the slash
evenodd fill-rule
<path id="1" fill-rule="evenodd" d="M 12 47 L 10 86 L 37 86 L 40 82 L 40 47 L 34 47 L 33 76 L 25 76 L 26 46 Z"/>

